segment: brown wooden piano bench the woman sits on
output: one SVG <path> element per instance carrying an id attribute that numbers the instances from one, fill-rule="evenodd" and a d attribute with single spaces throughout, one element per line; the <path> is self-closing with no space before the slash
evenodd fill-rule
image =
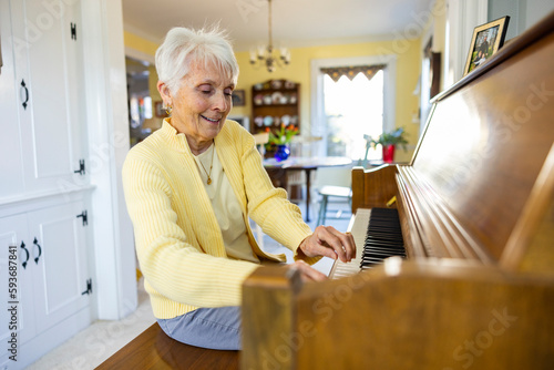
<path id="1" fill-rule="evenodd" d="M 238 351 L 187 346 L 167 337 L 157 322 L 102 362 L 107 369 L 238 369 Z"/>

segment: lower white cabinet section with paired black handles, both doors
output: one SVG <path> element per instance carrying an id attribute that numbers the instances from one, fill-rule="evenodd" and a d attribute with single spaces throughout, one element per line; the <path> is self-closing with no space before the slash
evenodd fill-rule
<path id="1" fill-rule="evenodd" d="M 80 317 L 80 328 L 90 325 L 93 282 L 86 263 L 86 216 L 80 201 L 0 218 L 2 301 L 16 307 L 18 316 L 17 330 L 0 328 L 4 343 L 17 331 L 18 361 L 8 361 L 8 369 L 27 366 L 71 338 L 75 328 L 59 326 L 68 318 Z M 18 255 L 16 296 L 9 290 L 10 246 Z M 1 322 L 10 322 L 11 312 L 0 312 Z"/>

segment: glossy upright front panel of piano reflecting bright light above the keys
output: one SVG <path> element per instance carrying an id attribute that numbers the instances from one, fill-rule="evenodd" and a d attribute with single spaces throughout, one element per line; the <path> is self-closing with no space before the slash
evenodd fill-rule
<path id="1" fill-rule="evenodd" d="M 413 160 L 419 184 L 496 260 L 552 147 L 552 61 L 554 34 L 442 97 Z"/>

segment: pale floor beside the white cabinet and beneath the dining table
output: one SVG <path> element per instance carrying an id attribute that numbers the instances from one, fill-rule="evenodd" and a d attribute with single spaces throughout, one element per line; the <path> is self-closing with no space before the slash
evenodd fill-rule
<path id="1" fill-rule="evenodd" d="M 305 204 L 299 204 L 305 212 Z M 311 220 L 308 223 L 314 229 L 317 225 L 317 205 L 310 207 Z M 331 225 L 340 232 L 346 232 L 349 223 L 348 205 L 331 204 L 329 209 L 346 209 L 342 219 L 328 219 L 325 224 Z M 332 213 L 328 213 L 332 216 Z M 264 248 L 271 253 L 286 253 L 289 260 L 291 253 L 280 246 L 267 235 L 264 236 Z M 322 273 L 328 273 L 332 260 L 324 258 L 314 265 Z M 65 343 L 54 349 L 28 369 L 31 370 L 86 370 L 94 369 L 133 338 L 148 328 L 154 321 L 147 294 L 144 291 L 142 279 L 137 282 L 138 308 L 121 321 L 96 321 L 78 333 Z"/>

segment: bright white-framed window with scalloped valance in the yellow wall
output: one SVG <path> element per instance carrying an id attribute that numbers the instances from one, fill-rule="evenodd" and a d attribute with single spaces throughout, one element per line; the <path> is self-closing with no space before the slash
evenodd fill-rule
<path id="1" fill-rule="evenodd" d="M 335 82 L 321 72 L 322 68 L 378 64 L 384 66 L 371 80 L 360 73 L 352 81 L 342 76 Z M 324 137 L 317 155 L 345 155 L 357 164 L 366 154 L 365 134 L 378 136 L 394 129 L 394 55 L 311 62 L 310 134 Z M 370 155 L 370 160 L 381 157 L 378 151 Z"/>

